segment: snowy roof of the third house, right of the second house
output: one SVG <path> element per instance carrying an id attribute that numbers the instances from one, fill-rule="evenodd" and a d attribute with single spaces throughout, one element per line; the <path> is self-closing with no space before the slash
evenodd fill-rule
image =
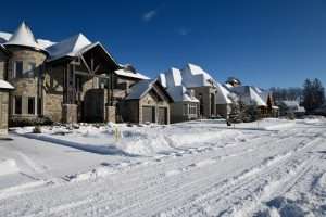
<path id="1" fill-rule="evenodd" d="M 251 86 L 239 86 L 229 89 L 239 95 L 239 100 L 249 105 L 255 103 L 258 106 L 266 106 L 266 102 Z"/>

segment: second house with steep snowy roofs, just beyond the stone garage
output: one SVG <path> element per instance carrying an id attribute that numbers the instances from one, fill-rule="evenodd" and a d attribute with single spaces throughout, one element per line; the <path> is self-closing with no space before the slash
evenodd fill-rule
<path id="1" fill-rule="evenodd" d="M 171 68 L 165 73 L 160 74 L 160 81 L 170 94 L 178 94 L 179 97 L 185 98 L 175 100 L 172 104 L 173 122 L 181 122 L 198 117 L 226 117 L 228 114 L 228 106 L 231 103 L 228 99 L 228 90 L 222 87 L 221 84 L 198 65 L 188 63 L 180 71 Z M 181 108 L 181 104 L 188 105 L 184 105 Z M 197 104 L 197 108 L 195 104 Z M 187 110 L 191 114 L 190 116 L 185 115 L 187 114 Z M 195 111 L 197 112 L 196 115 L 192 114 Z"/>

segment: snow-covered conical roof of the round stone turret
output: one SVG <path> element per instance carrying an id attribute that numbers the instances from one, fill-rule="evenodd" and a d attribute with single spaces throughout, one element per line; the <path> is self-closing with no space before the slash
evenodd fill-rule
<path id="1" fill-rule="evenodd" d="M 2 36 L 7 39 L 9 36 L 8 34 L 2 34 Z M 15 33 L 7 39 L 3 43 L 4 46 L 24 46 L 30 47 L 35 49 L 43 50 L 43 48 L 35 40 L 34 35 L 30 28 L 23 22 Z"/>

